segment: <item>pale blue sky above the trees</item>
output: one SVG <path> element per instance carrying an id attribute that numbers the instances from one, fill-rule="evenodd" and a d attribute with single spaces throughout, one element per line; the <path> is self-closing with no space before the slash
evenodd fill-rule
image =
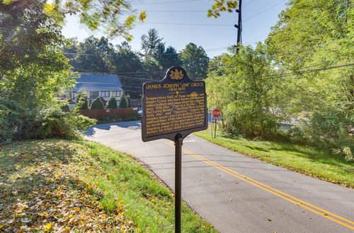
<path id="1" fill-rule="evenodd" d="M 278 14 L 285 9 L 288 0 L 243 0 L 242 1 L 242 42 L 252 44 L 263 42 L 270 28 L 278 21 Z M 219 18 L 207 18 L 207 9 L 212 6 L 211 0 L 139 0 L 133 8 L 147 12 L 144 23 L 136 23 L 130 31 L 134 40 L 130 42 L 133 50 L 141 49 L 140 37 L 155 28 L 159 36 L 164 38 L 166 47 L 173 46 L 179 52 L 186 44 L 193 42 L 202 46 L 212 58 L 236 43 L 238 14 L 223 12 Z M 123 20 L 123 18 L 122 18 Z M 80 25 L 76 16 L 67 18 L 63 33 L 65 37 L 77 37 L 83 41 L 89 35 L 101 37 L 101 32 L 91 32 Z M 122 38 L 111 40 L 120 44 Z"/>

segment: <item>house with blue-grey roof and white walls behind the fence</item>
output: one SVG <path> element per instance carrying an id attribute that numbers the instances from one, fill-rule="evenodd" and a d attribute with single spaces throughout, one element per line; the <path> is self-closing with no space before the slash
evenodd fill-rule
<path id="1" fill-rule="evenodd" d="M 97 97 L 101 97 L 102 100 L 107 102 L 109 97 L 113 96 L 117 100 L 117 104 L 119 104 L 123 89 L 118 76 L 81 74 L 80 78 L 77 78 L 76 81 L 77 83 L 74 88 L 69 91 L 72 104 L 76 102 L 76 95 L 81 90 L 88 92 L 90 102 Z"/>

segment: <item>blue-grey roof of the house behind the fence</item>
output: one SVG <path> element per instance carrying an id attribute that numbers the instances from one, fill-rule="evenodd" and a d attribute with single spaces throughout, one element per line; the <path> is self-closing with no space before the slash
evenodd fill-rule
<path id="1" fill-rule="evenodd" d="M 118 76 L 111 74 L 81 74 L 76 81 L 78 83 L 72 88 L 72 91 L 123 90 Z"/>

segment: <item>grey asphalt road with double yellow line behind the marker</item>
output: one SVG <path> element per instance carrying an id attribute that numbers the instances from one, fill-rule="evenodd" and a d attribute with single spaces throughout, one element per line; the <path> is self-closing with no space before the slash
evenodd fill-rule
<path id="1" fill-rule="evenodd" d="M 143 143 L 139 121 L 96 125 L 87 138 L 129 153 L 174 189 L 174 148 Z M 234 153 L 183 141 L 182 198 L 219 232 L 354 232 L 354 190 Z"/>

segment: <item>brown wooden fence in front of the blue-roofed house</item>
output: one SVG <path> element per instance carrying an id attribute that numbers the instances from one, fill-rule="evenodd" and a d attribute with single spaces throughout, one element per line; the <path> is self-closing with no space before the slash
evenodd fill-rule
<path id="1" fill-rule="evenodd" d="M 79 114 L 93 119 L 101 119 L 103 117 L 126 117 L 137 114 L 137 110 L 133 110 L 131 107 L 124 109 L 80 109 Z"/>

